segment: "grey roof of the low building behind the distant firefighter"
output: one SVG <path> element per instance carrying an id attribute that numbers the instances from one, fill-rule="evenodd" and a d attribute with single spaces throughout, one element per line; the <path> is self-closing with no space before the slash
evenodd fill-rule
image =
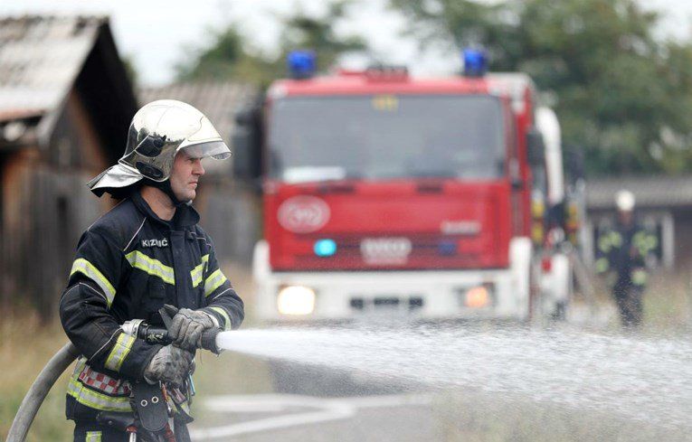
<path id="1" fill-rule="evenodd" d="M 589 209 L 614 209 L 615 193 L 621 190 L 634 193 L 638 207 L 692 206 L 692 175 L 590 179 L 586 205 Z"/>

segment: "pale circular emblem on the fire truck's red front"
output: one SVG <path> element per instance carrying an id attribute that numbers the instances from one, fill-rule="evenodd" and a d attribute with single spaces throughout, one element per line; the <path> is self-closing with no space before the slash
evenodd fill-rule
<path id="1" fill-rule="evenodd" d="M 294 196 L 279 206 L 281 227 L 294 233 L 311 233 L 329 221 L 327 202 L 314 196 Z"/>

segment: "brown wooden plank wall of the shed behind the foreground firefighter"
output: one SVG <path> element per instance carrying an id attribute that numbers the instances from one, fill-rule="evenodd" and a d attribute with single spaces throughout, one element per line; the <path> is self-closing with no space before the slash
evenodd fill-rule
<path id="1" fill-rule="evenodd" d="M 46 148 L 9 155 L 2 165 L 3 304 L 57 315 L 81 232 L 113 200 L 85 183 L 107 167 L 93 123 L 71 91 Z"/>

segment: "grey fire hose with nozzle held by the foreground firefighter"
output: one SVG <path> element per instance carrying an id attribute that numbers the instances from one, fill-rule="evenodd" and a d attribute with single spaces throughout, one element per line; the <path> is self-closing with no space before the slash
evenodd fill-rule
<path id="1" fill-rule="evenodd" d="M 160 313 L 167 327 L 170 322 L 170 316 L 167 315 L 163 308 L 160 310 Z M 153 327 L 141 320 L 128 321 L 121 327 L 124 333 L 137 336 L 137 338 L 143 339 L 147 343 L 159 343 L 162 345 L 171 343 L 167 328 Z M 220 331 L 220 329 L 213 329 L 204 332 L 202 334 L 202 348 L 217 352 L 216 336 Z M 26 392 L 24 400 L 22 400 L 22 404 L 14 416 L 6 442 L 24 442 L 26 434 L 33 423 L 33 418 L 36 417 L 36 413 L 41 408 L 41 404 L 43 404 L 43 400 L 45 400 L 53 384 L 79 355 L 79 350 L 72 343 L 66 343 L 52 356 L 51 360 L 36 377 L 36 380 L 33 381 L 31 388 Z"/>

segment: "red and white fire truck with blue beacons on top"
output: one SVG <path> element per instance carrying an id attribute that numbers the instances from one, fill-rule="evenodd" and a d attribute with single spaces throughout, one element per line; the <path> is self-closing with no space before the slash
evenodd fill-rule
<path id="1" fill-rule="evenodd" d="M 261 183 L 261 318 L 564 313 L 557 118 L 526 74 L 463 57 L 449 78 L 316 76 L 313 52 L 291 52 L 291 78 L 236 116 L 236 178 Z"/>

